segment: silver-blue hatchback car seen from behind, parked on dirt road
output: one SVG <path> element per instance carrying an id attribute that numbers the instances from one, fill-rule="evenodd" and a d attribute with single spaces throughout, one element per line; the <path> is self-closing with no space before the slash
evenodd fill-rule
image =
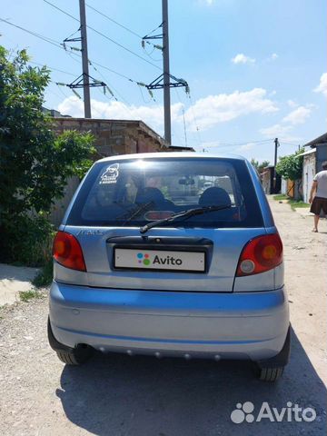
<path id="1" fill-rule="evenodd" d="M 276 381 L 289 360 L 282 242 L 239 156 L 102 159 L 54 239 L 48 337 L 60 360 L 94 350 L 251 360 Z"/>

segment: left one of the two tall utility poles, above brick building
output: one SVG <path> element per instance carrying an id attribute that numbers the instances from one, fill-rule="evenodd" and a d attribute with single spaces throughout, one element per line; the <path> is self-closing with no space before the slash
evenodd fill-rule
<path id="1" fill-rule="evenodd" d="M 82 41 L 84 117 L 91 118 L 90 76 L 88 70 L 85 0 L 79 0 L 79 4 L 80 4 L 81 41 Z"/>

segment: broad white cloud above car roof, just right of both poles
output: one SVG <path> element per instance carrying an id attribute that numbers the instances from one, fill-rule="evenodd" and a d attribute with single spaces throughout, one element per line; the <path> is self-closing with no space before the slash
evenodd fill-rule
<path id="1" fill-rule="evenodd" d="M 193 108 L 185 113 L 188 124 L 194 118 L 201 130 L 209 129 L 216 124 L 225 123 L 247 114 L 269 114 L 278 111 L 276 105 L 266 97 L 263 88 L 251 91 L 234 91 L 233 94 L 208 95 L 195 102 Z M 194 124 L 191 125 L 194 129 Z"/>

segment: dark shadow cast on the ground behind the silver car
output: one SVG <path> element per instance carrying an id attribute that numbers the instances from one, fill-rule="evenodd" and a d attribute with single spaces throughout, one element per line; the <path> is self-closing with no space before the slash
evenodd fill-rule
<path id="1" fill-rule="evenodd" d="M 324 435 L 326 388 L 292 332 L 292 359 L 282 381 L 266 384 L 248 362 L 185 362 L 96 355 L 81 368 L 64 367 L 56 391 L 67 418 L 96 435 Z M 279 410 L 287 401 L 312 407 L 312 422 L 231 421 L 236 403 L 263 401 Z"/>

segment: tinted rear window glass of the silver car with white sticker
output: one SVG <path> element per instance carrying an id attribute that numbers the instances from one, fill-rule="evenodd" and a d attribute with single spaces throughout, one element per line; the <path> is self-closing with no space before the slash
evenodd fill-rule
<path id="1" fill-rule="evenodd" d="M 263 218 L 246 164 L 233 159 L 164 158 L 95 163 L 67 224 L 138 226 L 211 205 L 179 227 L 262 227 Z"/>

